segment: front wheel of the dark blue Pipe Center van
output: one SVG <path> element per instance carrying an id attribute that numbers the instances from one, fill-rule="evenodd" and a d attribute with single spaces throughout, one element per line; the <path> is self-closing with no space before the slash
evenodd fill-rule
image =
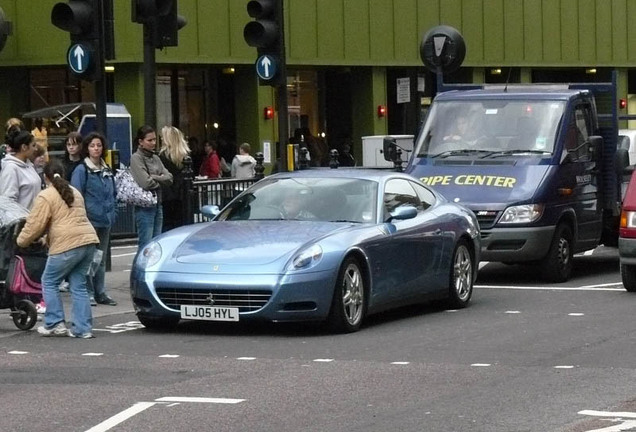
<path id="1" fill-rule="evenodd" d="M 574 259 L 572 228 L 557 225 L 548 254 L 541 260 L 543 275 L 550 282 L 566 282 L 572 274 Z"/>

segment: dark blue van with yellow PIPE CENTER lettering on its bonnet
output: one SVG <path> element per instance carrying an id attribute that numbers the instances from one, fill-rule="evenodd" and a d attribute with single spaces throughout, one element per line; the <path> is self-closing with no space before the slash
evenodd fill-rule
<path id="1" fill-rule="evenodd" d="M 406 168 L 474 211 L 484 261 L 540 264 L 555 282 L 575 253 L 615 244 L 620 213 L 616 116 L 571 87 L 440 93 Z"/>

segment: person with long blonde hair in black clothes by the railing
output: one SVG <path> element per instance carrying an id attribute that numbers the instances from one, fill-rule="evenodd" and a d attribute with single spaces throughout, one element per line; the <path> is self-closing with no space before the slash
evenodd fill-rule
<path id="1" fill-rule="evenodd" d="M 164 232 L 183 225 L 183 160 L 189 155 L 190 149 L 179 129 L 174 126 L 161 128 L 159 158 L 172 174 L 172 184 L 162 189 Z"/>

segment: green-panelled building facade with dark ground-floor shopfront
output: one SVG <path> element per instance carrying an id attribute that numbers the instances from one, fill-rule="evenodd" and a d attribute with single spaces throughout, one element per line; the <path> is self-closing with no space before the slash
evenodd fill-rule
<path id="1" fill-rule="evenodd" d="M 0 0 L 13 23 L 0 52 L 2 121 L 93 99 L 92 84 L 68 72 L 69 35 L 50 21 L 56 2 Z M 178 0 L 187 25 L 178 47 L 156 51 L 156 126 L 223 138 L 232 150 L 275 141 L 277 122 L 263 116 L 274 92 L 258 85 L 256 50 L 243 39 L 246 4 Z M 435 93 L 419 43 L 439 24 L 457 28 L 467 47 L 449 81 L 607 81 L 617 69 L 620 97 L 629 102 L 636 93 L 636 30 L 628 25 L 636 0 L 285 0 L 284 11 L 289 135 L 306 128 L 333 148 L 350 141 L 358 158 L 362 136 L 415 132 Z M 128 0 L 114 0 L 114 18 L 108 99 L 126 105 L 136 128 L 144 115 L 142 26 L 131 21 Z M 409 78 L 408 101 L 398 97 L 402 78 Z M 378 106 L 388 108 L 385 117 Z"/>

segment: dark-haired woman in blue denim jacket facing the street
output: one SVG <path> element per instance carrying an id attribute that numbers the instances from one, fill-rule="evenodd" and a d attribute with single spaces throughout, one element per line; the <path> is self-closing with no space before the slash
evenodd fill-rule
<path id="1" fill-rule="evenodd" d="M 71 185 L 80 191 L 84 198 L 86 215 L 95 229 L 102 251 L 102 259 L 93 276 L 87 277 L 91 306 L 103 304 L 117 306 L 117 302 L 108 295 L 105 286 L 106 252 L 110 245 L 110 230 L 115 223 L 115 177 L 104 162 L 106 138 L 98 132 L 89 133 L 82 142 L 84 159 L 73 171 Z"/>

